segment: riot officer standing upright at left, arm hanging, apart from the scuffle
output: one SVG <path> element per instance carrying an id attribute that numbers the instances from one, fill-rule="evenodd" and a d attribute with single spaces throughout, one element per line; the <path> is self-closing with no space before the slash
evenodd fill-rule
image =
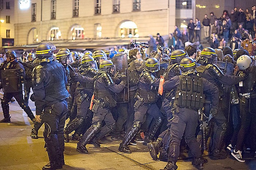
<path id="1" fill-rule="evenodd" d="M 65 68 L 53 61 L 53 50 L 46 43 L 36 48 L 34 63 L 40 65 L 32 73 L 36 119 L 45 124 L 44 140 L 50 161 L 42 169 L 61 169 L 65 164 L 63 129 L 69 94 Z"/>

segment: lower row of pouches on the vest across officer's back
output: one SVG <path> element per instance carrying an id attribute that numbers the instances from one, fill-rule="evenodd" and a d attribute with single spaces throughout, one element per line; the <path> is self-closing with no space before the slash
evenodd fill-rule
<path id="1" fill-rule="evenodd" d="M 177 91 L 175 95 L 176 104 L 179 107 L 192 109 L 203 108 L 205 95 L 197 92 Z"/>

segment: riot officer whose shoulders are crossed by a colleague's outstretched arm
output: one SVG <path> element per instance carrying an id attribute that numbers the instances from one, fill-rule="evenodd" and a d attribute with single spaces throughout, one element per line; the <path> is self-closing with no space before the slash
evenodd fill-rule
<path id="1" fill-rule="evenodd" d="M 91 57 L 90 55 L 84 55 L 82 57 L 82 62 L 79 67 L 79 73 L 83 76 L 94 78 L 94 76 L 97 74 L 97 65 L 93 57 Z M 66 142 L 69 142 L 68 134 L 70 134 L 74 130 L 79 129 L 82 126 L 85 126 L 86 118 L 88 116 L 87 112 L 89 111 L 88 108 L 90 106 L 91 97 L 93 96 L 93 86 L 93 82 L 78 82 L 76 85 L 75 100 L 78 112 L 76 118 L 64 129 L 64 137 Z M 77 131 L 76 134 L 76 136 L 80 136 Z"/>

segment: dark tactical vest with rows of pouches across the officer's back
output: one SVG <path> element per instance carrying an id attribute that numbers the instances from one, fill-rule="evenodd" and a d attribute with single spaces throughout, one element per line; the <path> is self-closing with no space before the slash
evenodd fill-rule
<path id="1" fill-rule="evenodd" d="M 203 94 L 203 81 L 198 76 L 180 75 L 180 84 L 176 90 L 175 103 L 177 106 L 201 109 L 205 95 Z"/>

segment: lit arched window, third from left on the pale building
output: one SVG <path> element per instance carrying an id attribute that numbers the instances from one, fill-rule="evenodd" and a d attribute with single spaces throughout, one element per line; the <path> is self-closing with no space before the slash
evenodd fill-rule
<path id="1" fill-rule="evenodd" d="M 84 28 L 79 24 L 74 24 L 69 28 L 68 39 L 84 39 Z"/>

